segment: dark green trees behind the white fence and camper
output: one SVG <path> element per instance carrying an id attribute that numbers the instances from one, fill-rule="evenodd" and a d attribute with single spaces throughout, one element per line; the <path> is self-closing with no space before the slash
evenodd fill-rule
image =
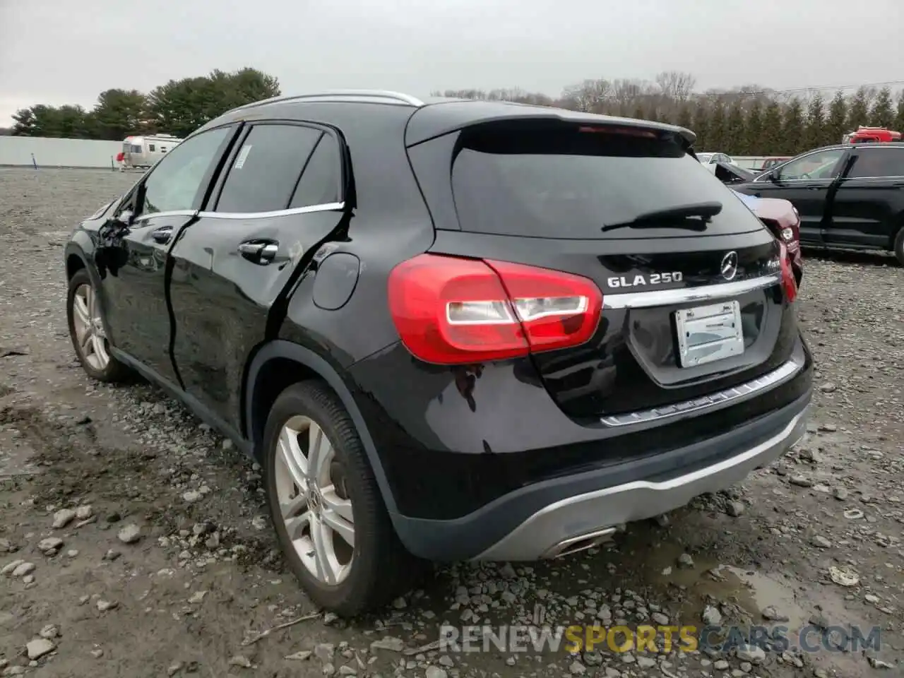
<path id="1" fill-rule="evenodd" d="M 145 94 L 107 89 L 90 110 L 38 104 L 16 111 L 10 133 L 21 137 L 63 137 L 121 141 L 131 135 L 186 137 L 230 108 L 279 96 L 279 81 L 252 68 L 212 71 L 170 80 Z"/>

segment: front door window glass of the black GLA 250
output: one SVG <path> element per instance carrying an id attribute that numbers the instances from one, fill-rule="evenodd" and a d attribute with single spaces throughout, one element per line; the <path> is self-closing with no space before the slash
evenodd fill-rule
<path id="1" fill-rule="evenodd" d="M 220 127 L 204 132 L 186 139 L 161 158 L 147 175 L 141 213 L 193 210 L 204 176 L 220 159 L 220 148 L 232 131 L 232 127 Z"/>

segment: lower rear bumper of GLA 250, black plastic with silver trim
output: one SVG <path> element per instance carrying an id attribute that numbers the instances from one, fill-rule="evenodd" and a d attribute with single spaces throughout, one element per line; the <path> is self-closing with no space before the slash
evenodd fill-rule
<path id="1" fill-rule="evenodd" d="M 455 520 L 392 516 L 401 541 L 428 560 L 538 560 L 565 541 L 651 518 L 738 483 L 805 433 L 812 391 L 720 436 L 520 488 Z"/>

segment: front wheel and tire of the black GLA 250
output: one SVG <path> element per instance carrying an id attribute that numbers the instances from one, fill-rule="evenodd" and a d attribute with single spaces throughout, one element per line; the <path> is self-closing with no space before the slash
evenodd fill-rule
<path id="1" fill-rule="evenodd" d="M 69 281 L 66 316 L 72 347 L 91 379 L 119 383 L 135 377 L 135 373 L 109 351 L 97 290 L 85 268 L 76 271 Z"/>

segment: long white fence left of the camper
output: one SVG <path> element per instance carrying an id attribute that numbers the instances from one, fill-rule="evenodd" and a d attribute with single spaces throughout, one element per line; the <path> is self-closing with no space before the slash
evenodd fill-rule
<path id="1" fill-rule="evenodd" d="M 0 137 L 0 166 L 119 167 L 121 141 Z"/>

